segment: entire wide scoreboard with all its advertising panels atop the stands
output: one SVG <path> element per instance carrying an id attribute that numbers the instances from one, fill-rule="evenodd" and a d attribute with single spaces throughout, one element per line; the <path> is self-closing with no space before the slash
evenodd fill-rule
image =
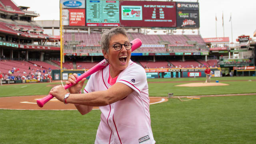
<path id="1" fill-rule="evenodd" d="M 198 2 L 60 0 L 64 26 L 199 28 Z M 66 27 L 67 28 L 67 27 Z"/>

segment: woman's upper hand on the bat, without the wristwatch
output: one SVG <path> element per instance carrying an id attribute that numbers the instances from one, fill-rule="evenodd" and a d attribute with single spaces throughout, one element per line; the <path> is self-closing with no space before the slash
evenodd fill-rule
<path id="1" fill-rule="evenodd" d="M 68 81 L 66 81 L 66 84 L 71 84 L 71 83 L 75 84 L 74 86 L 71 86 L 70 88 L 68 88 L 68 90 L 71 94 L 79 94 L 80 90 L 84 86 L 84 81 L 86 80 L 86 78 L 83 78 L 79 83 L 76 84 L 77 77 L 78 77 L 77 74 L 74 73 L 73 75 L 70 76 Z"/>

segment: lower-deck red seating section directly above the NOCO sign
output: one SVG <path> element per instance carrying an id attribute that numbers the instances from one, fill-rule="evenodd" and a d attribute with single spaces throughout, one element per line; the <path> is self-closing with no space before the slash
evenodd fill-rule
<path id="1" fill-rule="evenodd" d="M 184 62 L 172 60 L 170 61 L 172 68 L 200 68 L 202 65 L 194 60 L 186 60 Z"/>

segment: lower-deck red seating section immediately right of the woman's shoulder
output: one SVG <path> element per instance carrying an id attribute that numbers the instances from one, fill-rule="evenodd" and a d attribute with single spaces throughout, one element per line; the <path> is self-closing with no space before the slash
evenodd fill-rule
<path id="1" fill-rule="evenodd" d="M 140 64 L 144 68 L 170 68 L 170 66 L 168 66 L 168 62 L 166 61 L 157 61 L 157 62 L 140 61 Z"/>

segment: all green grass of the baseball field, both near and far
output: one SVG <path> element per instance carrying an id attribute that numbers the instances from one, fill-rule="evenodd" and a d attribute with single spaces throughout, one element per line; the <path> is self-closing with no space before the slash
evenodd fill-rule
<path id="1" fill-rule="evenodd" d="M 152 131 L 157 144 L 255 144 L 256 77 L 221 77 L 211 80 L 212 83 L 218 80 L 227 85 L 176 86 L 203 83 L 205 78 L 148 79 L 150 96 L 167 98 L 171 92 L 174 97 L 200 98 L 169 98 L 167 102 L 150 105 Z M 94 143 L 100 110 L 92 110 L 82 116 L 77 110 L 2 108 L 3 98 L 13 98 L 6 104 L 21 96 L 45 96 L 52 86 L 58 84 L 0 86 L 0 144 Z M 222 96 L 209 96 L 220 94 Z M 25 106 L 29 106 L 29 103 Z"/>

